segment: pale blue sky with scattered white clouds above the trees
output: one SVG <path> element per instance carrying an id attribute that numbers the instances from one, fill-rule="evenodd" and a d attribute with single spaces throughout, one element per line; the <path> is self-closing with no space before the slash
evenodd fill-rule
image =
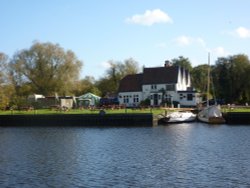
<path id="1" fill-rule="evenodd" d="M 163 66 L 182 55 L 193 66 L 250 57 L 249 0 L 2 0 L 0 52 L 52 42 L 82 60 L 81 77 L 104 76 L 109 60 Z"/>

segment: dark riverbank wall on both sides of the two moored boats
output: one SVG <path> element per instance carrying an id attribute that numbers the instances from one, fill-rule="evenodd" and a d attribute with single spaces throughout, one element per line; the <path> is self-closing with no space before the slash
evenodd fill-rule
<path id="1" fill-rule="evenodd" d="M 229 125 L 250 125 L 250 112 L 225 112 L 223 117 Z M 154 113 L 0 115 L 0 126 L 151 127 L 157 122 Z"/>

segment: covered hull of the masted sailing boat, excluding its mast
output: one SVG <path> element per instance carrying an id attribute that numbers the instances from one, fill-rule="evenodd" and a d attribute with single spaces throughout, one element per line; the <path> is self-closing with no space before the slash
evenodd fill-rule
<path id="1" fill-rule="evenodd" d="M 205 107 L 198 113 L 198 120 L 209 124 L 223 124 L 225 119 L 222 116 L 219 105 Z"/>

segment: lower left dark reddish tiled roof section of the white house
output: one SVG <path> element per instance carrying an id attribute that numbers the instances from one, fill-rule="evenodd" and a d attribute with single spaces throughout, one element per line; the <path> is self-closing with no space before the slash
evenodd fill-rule
<path id="1" fill-rule="evenodd" d="M 142 74 L 125 76 L 119 85 L 119 92 L 142 91 Z"/>

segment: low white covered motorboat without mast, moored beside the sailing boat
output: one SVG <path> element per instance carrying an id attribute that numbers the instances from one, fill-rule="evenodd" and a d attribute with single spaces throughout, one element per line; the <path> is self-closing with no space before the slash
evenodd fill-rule
<path id="1" fill-rule="evenodd" d="M 160 123 L 185 123 L 196 120 L 196 115 L 189 111 L 171 112 L 159 120 Z"/>

